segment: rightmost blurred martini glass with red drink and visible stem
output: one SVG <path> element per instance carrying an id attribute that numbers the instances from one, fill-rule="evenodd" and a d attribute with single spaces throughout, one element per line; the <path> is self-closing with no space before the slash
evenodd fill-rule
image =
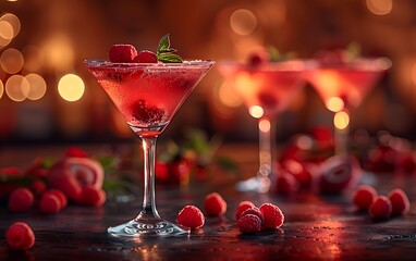
<path id="1" fill-rule="evenodd" d="M 318 61 L 319 66 L 307 74 L 308 80 L 334 112 L 337 156 L 347 156 L 350 111 L 362 104 L 377 80 L 391 66 L 386 58 L 356 58 L 348 61 Z"/>

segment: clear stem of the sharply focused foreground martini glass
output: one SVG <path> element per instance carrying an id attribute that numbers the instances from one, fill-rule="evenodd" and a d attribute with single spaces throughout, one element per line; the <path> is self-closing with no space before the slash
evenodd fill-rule
<path id="1" fill-rule="evenodd" d="M 157 137 L 142 138 L 142 147 L 144 154 L 144 196 L 140 215 L 152 215 L 160 219 L 156 209 L 155 201 L 155 158 L 156 158 L 156 140 Z"/>

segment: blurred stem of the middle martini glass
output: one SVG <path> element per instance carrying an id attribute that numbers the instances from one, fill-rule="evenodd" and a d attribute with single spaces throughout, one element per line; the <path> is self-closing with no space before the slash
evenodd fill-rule
<path id="1" fill-rule="evenodd" d="M 269 190 L 271 181 L 276 175 L 273 161 L 276 160 L 276 133 L 274 123 L 269 116 L 262 116 L 258 122 L 259 129 L 259 161 L 260 166 L 257 177 L 260 178 L 260 190 Z"/>

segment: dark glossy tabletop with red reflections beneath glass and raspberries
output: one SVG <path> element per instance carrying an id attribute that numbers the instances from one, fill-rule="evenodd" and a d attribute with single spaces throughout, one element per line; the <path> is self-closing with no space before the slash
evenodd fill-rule
<path id="1" fill-rule="evenodd" d="M 17 163 L 27 162 L 33 157 L 30 153 L 48 154 L 59 149 L 3 149 L 0 166 L 12 163 L 12 159 Z M 234 157 L 247 173 L 256 170 L 256 146 L 225 146 L 220 151 Z M 234 182 L 235 177 L 218 172 L 187 188 L 157 187 L 159 213 L 170 221 L 175 220 L 185 204 L 201 208 L 208 192 L 218 191 L 227 200 L 228 211 L 223 217 L 208 217 L 205 226 L 188 237 L 124 241 L 109 236 L 108 226 L 138 214 L 140 191 L 127 202 L 112 198 L 101 208 L 69 206 L 56 215 L 36 211 L 10 213 L 3 206 L 0 209 L 0 260 L 416 260 L 414 177 L 387 174 L 377 177 L 376 187 L 381 194 L 401 187 L 412 201 L 407 215 L 386 221 L 374 221 L 366 213 L 357 213 L 351 203 L 351 192 L 339 196 L 302 192 L 286 198 L 273 192 L 242 194 L 234 189 Z M 285 215 L 283 226 L 254 235 L 241 234 L 234 213 L 242 200 L 279 206 Z M 27 222 L 35 232 L 36 244 L 28 251 L 12 251 L 5 244 L 5 229 L 15 221 Z"/>

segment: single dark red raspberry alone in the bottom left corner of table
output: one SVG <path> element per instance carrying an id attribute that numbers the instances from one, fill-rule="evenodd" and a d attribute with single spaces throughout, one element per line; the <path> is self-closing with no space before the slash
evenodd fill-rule
<path id="1" fill-rule="evenodd" d="M 5 232 L 5 240 L 13 250 L 27 250 L 35 245 L 35 234 L 24 222 L 15 222 Z"/>

